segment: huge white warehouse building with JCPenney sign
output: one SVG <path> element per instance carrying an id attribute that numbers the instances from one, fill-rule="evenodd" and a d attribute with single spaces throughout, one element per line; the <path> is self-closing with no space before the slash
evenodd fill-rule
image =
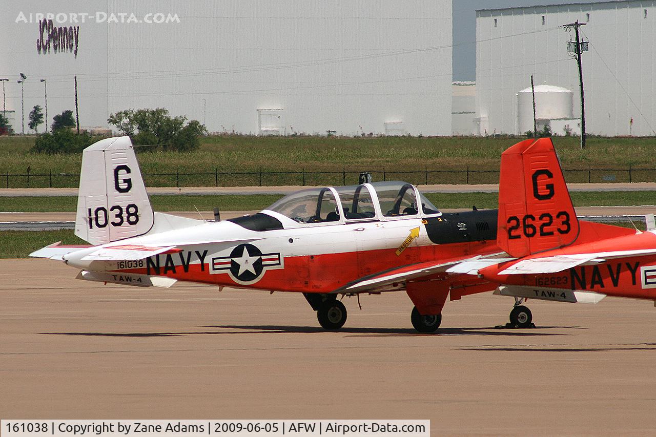
<path id="1" fill-rule="evenodd" d="M 10 79 L 18 133 L 24 73 L 26 133 L 31 108 L 44 106 L 41 79 L 50 125 L 74 110 L 77 75 L 81 126 L 163 107 L 209 131 L 451 135 L 451 0 L 26 0 L 1 9 L 0 78 Z"/>

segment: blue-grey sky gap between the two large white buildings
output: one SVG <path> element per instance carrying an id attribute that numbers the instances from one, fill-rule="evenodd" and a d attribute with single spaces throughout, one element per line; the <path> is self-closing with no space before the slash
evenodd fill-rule
<path id="1" fill-rule="evenodd" d="M 476 79 L 476 9 L 594 3 L 598 0 L 453 0 L 453 80 Z M 464 43 L 462 45 L 456 45 Z"/>

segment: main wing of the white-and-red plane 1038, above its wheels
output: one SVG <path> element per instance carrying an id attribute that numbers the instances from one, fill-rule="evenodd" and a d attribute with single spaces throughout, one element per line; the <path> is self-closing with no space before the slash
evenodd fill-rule
<path id="1" fill-rule="evenodd" d="M 495 255 L 498 257 L 501 254 L 497 253 L 494 255 L 486 255 L 485 257 L 491 257 Z M 401 285 L 405 285 L 405 281 L 407 280 L 423 278 L 425 276 L 430 276 L 438 273 L 448 273 L 449 268 L 457 266 L 461 262 L 476 262 L 484 260 L 485 257 L 482 255 L 477 255 L 476 257 L 441 260 L 440 262 L 428 261 L 419 262 L 417 264 L 409 264 L 407 266 L 392 268 L 390 270 L 384 270 L 383 272 L 365 276 L 364 278 L 359 278 L 359 280 L 352 281 L 344 285 L 344 287 L 333 291 L 332 293 L 367 293 L 372 291 L 391 291 L 397 287 L 398 289 L 401 289 Z M 499 262 L 498 259 L 495 260 L 493 264 L 496 264 L 497 262 Z M 459 274 L 462 272 L 453 273 Z"/>

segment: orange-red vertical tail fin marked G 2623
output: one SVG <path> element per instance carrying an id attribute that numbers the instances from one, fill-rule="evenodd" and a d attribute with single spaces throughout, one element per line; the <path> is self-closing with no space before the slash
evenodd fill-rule
<path id="1" fill-rule="evenodd" d="M 571 245 L 579 220 L 550 138 L 524 140 L 501 155 L 497 244 L 513 257 Z"/>

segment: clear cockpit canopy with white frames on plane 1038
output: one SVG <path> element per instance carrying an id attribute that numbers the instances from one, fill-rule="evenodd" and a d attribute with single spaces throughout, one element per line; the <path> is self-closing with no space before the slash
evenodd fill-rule
<path id="1" fill-rule="evenodd" d="M 417 187 L 400 181 L 310 188 L 285 196 L 266 211 L 303 224 L 398 220 L 440 214 Z"/>

